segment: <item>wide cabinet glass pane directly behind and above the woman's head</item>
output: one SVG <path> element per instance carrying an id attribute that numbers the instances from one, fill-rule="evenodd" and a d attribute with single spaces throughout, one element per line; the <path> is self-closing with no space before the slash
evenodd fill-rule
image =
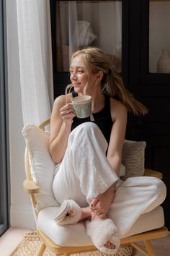
<path id="1" fill-rule="evenodd" d="M 97 46 L 121 72 L 122 1 L 55 1 L 56 67 L 69 71 L 74 51 Z"/>

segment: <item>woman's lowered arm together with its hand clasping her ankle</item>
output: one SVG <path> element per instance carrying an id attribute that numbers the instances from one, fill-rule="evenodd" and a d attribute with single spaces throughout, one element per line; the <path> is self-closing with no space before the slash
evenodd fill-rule
<path id="1" fill-rule="evenodd" d="M 120 101 L 116 101 L 112 98 L 110 99 L 110 106 L 113 125 L 107 150 L 107 159 L 113 170 L 119 176 L 128 111 Z M 97 210 L 102 218 L 102 216 L 107 214 L 114 197 L 115 191 L 111 186 L 102 195 L 91 200 L 91 210 Z"/>

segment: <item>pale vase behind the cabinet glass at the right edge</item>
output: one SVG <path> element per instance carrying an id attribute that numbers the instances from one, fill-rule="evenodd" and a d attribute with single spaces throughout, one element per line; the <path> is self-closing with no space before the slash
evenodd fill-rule
<path id="1" fill-rule="evenodd" d="M 162 50 L 162 55 L 158 59 L 157 63 L 158 73 L 170 73 L 170 54 L 169 49 L 164 48 Z"/>

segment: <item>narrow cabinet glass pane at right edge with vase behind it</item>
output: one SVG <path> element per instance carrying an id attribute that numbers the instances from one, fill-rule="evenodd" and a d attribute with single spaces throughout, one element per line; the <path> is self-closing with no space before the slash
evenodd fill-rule
<path id="1" fill-rule="evenodd" d="M 170 73 L 170 1 L 149 3 L 149 72 Z"/>

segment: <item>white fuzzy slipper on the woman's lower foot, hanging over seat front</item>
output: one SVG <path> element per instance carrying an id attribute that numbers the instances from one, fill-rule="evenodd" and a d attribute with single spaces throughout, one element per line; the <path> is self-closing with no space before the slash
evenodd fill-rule
<path id="1" fill-rule="evenodd" d="M 86 234 L 91 237 L 95 247 L 99 251 L 109 255 L 115 254 L 120 247 L 120 237 L 117 227 L 110 218 L 99 221 L 86 221 Z M 104 246 L 107 242 L 115 245 L 114 249 Z"/>

